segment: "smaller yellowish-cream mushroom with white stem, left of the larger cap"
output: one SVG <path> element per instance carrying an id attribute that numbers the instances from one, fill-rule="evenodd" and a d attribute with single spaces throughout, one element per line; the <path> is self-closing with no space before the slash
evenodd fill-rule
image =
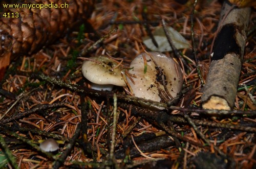
<path id="1" fill-rule="evenodd" d="M 122 71 L 117 67 L 118 64 L 105 56 L 91 57 L 82 64 L 82 74 L 88 79 L 91 88 L 96 90 L 112 90 L 113 86 L 126 86 L 121 74 Z"/>

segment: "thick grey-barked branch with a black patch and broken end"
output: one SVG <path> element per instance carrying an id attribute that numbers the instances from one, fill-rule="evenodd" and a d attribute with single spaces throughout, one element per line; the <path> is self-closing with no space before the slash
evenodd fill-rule
<path id="1" fill-rule="evenodd" d="M 250 8 L 232 8 L 226 1 L 222 6 L 219 31 L 201 99 L 204 109 L 231 110 L 236 99 Z"/>

